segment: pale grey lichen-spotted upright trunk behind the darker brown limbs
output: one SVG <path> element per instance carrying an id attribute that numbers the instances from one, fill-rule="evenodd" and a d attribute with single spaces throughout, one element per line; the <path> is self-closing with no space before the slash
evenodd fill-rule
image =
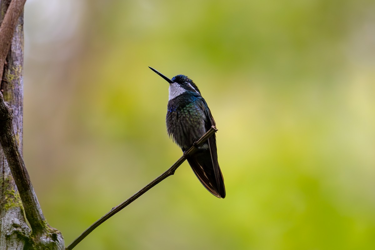
<path id="1" fill-rule="evenodd" d="M 1 1 L 0 20 L 10 1 Z M 23 13 L 13 34 L 0 91 L 13 109 L 13 129 L 22 155 L 23 129 Z M 30 236 L 17 186 L 0 147 L 0 250 L 22 250 Z"/>

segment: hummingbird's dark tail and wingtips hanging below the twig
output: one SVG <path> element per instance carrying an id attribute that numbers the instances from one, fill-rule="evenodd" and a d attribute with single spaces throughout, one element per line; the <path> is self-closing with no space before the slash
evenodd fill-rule
<path id="1" fill-rule="evenodd" d="M 225 198 L 223 175 L 219 165 L 213 166 L 210 150 L 199 150 L 190 156 L 187 161 L 196 177 L 210 193 L 218 198 Z M 218 173 L 215 174 L 215 172 Z"/>

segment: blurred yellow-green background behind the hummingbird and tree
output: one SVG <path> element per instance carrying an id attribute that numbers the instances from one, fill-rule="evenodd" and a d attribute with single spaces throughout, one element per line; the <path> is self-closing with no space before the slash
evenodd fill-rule
<path id="1" fill-rule="evenodd" d="M 24 158 L 66 245 L 181 156 L 168 84 L 217 122 L 227 197 L 187 163 L 75 249 L 375 249 L 375 2 L 28 0 Z"/>

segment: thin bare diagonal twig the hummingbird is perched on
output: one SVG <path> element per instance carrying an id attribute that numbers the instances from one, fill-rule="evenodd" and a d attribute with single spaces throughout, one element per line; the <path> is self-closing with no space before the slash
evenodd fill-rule
<path id="1" fill-rule="evenodd" d="M 114 214 L 118 213 L 120 210 L 122 210 L 124 207 L 135 201 L 139 196 L 150 190 L 152 187 L 156 186 L 159 182 L 166 179 L 166 177 L 171 176 L 174 174 L 174 171 L 180 167 L 180 165 L 186 160 L 186 157 L 191 155 L 197 150 L 197 147 L 200 146 L 202 143 L 204 143 L 211 135 L 213 135 L 217 131 L 215 126 L 212 126 L 198 141 L 195 142 L 194 146 L 190 147 L 183 156 L 180 157 L 168 170 L 166 170 L 163 174 L 161 174 L 159 177 L 154 179 L 152 182 L 148 183 L 145 187 L 143 187 L 141 190 L 136 192 L 134 195 L 132 195 L 129 199 L 122 202 L 120 205 L 117 205 L 116 207 L 112 208 L 111 211 L 109 211 L 107 214 L 105 214 L 103 217 L 101 217 L 99 220 L 94 222 L 89 228 L 87 228 L 79 237 L 77 237 L 68 247 L 66 247 L 66 250 L 72 250 L 75 246 L 77 246 L 78 243 L 80 243 L 87 235 L 89 235 L 95 228 L 97 228 L 99 225 L 101 225 L 103 222 L 108 220 L 110 217 L 112 217 Z"/>

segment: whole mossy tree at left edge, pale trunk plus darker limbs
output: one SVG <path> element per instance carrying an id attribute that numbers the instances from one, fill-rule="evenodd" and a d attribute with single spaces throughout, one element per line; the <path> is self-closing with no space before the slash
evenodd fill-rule
<path id="1" fill-rule="evenodd" d="M 0 250 L 63 250 L 63 236 L 43 216 L 22 156 L 25 1 L 0 1 Z"/>

